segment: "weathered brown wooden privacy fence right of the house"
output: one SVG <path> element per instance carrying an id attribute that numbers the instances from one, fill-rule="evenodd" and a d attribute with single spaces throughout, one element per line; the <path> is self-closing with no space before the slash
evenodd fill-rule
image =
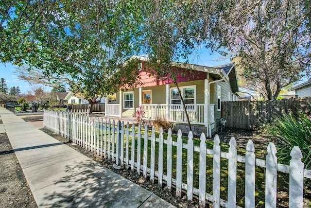
<path id="1" fill-rule="evenodd" d="M 297 115 L 299 111 L 311 115 L 311 97 L 278 101 L 226 101 L 222 102 L 222 118 L 226 127 L 254 129 L 270 123 L 277 115 Z"/>

